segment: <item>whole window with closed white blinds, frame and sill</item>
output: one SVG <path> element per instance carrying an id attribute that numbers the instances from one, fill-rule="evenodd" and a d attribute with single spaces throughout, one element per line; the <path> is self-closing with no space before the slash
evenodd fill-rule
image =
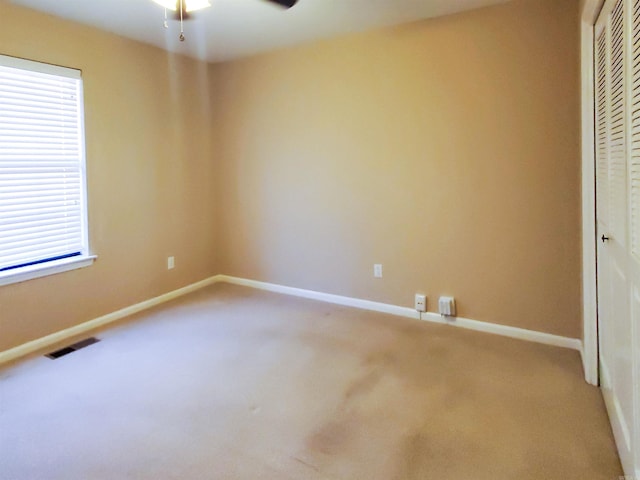
<path id="1" fill-rule="evenodd" d="M 0 285 L 93 258 L 80 71 L 0 55 Z"/>

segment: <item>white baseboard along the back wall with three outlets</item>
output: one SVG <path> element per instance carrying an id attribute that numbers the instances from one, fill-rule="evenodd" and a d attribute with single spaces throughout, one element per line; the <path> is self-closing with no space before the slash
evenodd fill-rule
<path id="1" fill-rule="evenodd" d="M 415 318 L 428 322 L 452 325 L 469 330 L 476 330 L 478 332 L 493 333 L 495 335 L 517 338 L 519 340 L 544 343 L 545 345 L 570 348 L 572 350 L 582 352 L 582 342 L 577 338 L 562 337 L 559 335 L 552 335 L 550 333 L 536 332 L 534 330 L 526 330 L 524 328 L 481 322 L 478 320 L 471 320 L 462 317 L 442 317 L 441 315 L 438 315 L 436 313 L 423 313 L 422 316 L 420 316 L 419 312 L 410 307 L 400 307 L 387 303 L 372 302 L 370 300 L 361 300 L 358 298 L 315 292 L 313 290 L 285 287 L 273 283 L 259 282 L 257 280 L 247 280 L 244 278 L 230 277 L 227 275 L 218 275 L 218 281 L 233 283 L 235 285 L 244 285 L 261 290 L 268 290 L 270 292 L 284 293 L 286 295 L 294 295 L 296 297 L 304 297 L 313 300 L 320 300 L 323 302 L 336 303 L 338 305 L 346 305 L 349 307 L 362 308 L 365 310 L 373 310 L 375 312 L 389 313 L 401 317 Z"/>

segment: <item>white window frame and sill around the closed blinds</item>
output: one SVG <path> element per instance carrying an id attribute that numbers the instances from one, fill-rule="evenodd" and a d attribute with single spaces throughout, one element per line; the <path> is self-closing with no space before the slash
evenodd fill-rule
<path id="1" fill-rule="evenodd" d="M 84 80 L 82 71 L 78 69 L 62 67 L 49 63 L 27 60 L 8 55 L 0 55 L 0 65 L 10 68 L 16 68 L 29 72 L 45 73 L 49 75 L 63 76 L 67 78 L 75 78 L 79 81 L 78 86 L 78 141 L 80 152 L 80 201 L 81 201 L 81 238 L 82 250 L 79 255 L 47 260 L 35 264 L 16 267 L 9 270 L 0 271 L 0 286 L 12 283 L 24 282 L 34 278 L 54 275 L 78 268 L 88 267 L 93 264 L 97 258 L 91 253 L 89 244 L 89 205 L 87 194 L 87 155 L 86 155 L 86 138 L 85 138 L 85 116 L 84 116 Z"/>

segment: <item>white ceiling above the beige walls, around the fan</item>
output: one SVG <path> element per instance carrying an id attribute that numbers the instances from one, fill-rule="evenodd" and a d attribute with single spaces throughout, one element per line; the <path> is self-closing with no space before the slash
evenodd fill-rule
<path id="1" fill-rule="evenodd" d="M 299 0 L 290 10 L 264 0 L 211 0 L 185 22 L 162 27 L 163 8 L 151 0 L 11 0 L 103 30 L 218 62 L 349 32 L 397 25 L 508 0 Z"/>

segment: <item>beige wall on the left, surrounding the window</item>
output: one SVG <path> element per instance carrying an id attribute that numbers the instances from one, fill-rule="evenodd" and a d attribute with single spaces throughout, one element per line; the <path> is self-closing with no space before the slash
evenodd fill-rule
<path id="1" fill-rule="evenodd" d="M 217 273 L 206 64 L 7 2 L 0 18 L 1 54 L 83 71 L 99 256 L 0 287 L 0 351 Z"/>

